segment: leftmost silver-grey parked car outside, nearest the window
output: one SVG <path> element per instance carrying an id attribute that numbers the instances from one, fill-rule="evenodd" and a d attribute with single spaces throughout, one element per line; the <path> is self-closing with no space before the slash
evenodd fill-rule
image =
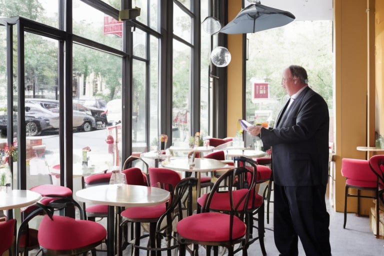
<path id="1" fill-rule="evenodd" d="M 58 114 L 35 104 L 25 103 L 25 132 L 26 136 L 39 135 L 43 130 L 54 129 Z M 3 135 L 7 133 L 8 118 L 6 114 L 0 115 L 0 129 Z M 17 130 L 17 107 L 13 109 L 13 130 Z"/>

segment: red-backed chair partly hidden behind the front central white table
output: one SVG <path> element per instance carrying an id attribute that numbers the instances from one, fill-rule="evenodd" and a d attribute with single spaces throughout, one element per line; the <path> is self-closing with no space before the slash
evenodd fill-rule
<path id="1" fill-rule="evenodd" d="M 148 174 L 151 186 L 168 190 L 171 200 L 173 189 L 181 180 L 179 173 L 167 168 L 149 167 Z M 134 234 L 131 234 L 133 239 L 130 242 L 134 248 L 134 255 L 139 255 L 139 249 L 150 250 L 156 248 L 156 224 L 166 209 L 167 202 L 164 202 L 153 206 L 129 207 L 121 211 L 120 215 L 123 217 L 123 221 L 120 225 L 125 225 L 128 222 L 134 223 Z M 149 223 L 149 230 L 143 235 L 141 235 L 141 223 Z M 148 245 L 140 246 L 140 241 L 145 237 L 148 237 Z"/>

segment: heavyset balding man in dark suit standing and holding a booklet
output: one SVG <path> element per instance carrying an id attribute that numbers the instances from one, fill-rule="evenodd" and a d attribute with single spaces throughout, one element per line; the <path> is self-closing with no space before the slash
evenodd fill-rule
<path id="1" fill-rule="evenodd" d="M 329 214 L 325 205 L 328 180 L 329 112 L 324 99 L 308 87 L 305 69 L 290 65 L 281 85 L 290 99 L 275 127 L 250 126 L 264 148 L 272 146 L 274 241 L 280 255 L 330 255 Z"/>

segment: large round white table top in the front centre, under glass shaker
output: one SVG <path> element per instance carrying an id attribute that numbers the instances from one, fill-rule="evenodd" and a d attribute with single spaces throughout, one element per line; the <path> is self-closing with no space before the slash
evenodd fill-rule
<path id="1" fill-rule="evenodd" d="M 169 191 L 151 186 L 110 184 L 78 190 L 76 198 L 83 202 L 112 206 L 150 206 L 167 201 Z"/>

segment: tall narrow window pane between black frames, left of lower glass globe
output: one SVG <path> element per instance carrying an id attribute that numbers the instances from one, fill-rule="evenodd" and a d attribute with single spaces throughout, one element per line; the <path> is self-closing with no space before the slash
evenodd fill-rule
<path id="1" fill-rule="evenodd" d="M 208 16 L 208 0 L 201 1 L 201 17 Z M 209 54 L 210 54 L 210 35 L 201 30 L 201 69 L 200 69 L 200 132 L 205 135 L 212 135 L 209 126 L 209 102 L 211 102 L 211 86 L 209 82 Z"/>

